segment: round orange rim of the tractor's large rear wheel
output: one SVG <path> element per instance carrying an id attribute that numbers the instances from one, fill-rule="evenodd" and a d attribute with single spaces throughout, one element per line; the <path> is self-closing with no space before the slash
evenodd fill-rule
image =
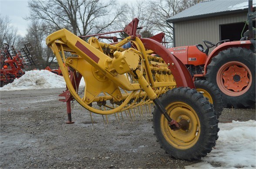
<path id="1" fill-rule="evenodd" d="M 241 62 L 227 62 L 219 68 L 216 81 L 224 94 L 239 96 L 249 90 L 252 84 L 252 73 Z"/>

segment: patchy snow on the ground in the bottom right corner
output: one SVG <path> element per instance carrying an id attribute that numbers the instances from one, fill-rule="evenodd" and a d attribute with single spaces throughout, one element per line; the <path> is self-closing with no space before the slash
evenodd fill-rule
<path id="1" fill-rule="evenodd" d="M 255 168 L 256 121 L 219 123 L 219 128 L 216 149 L 202 158 L 203 162 L 185 168 Z"/>

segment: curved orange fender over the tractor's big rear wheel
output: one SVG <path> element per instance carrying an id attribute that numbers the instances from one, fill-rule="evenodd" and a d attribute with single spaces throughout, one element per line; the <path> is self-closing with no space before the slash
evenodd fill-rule
<path id="1" fill-rule="evenodd" d="M 207 66 L 209 63 L 212 61 L 212 58 L 216 56 L 220 51 L 232 48 L 232 47 L 242 47 L 242 48 L 247 48 L 251 49 L 253 47 L 253 42 L 250 40 L 244 40 L 244 41 L 233 41 L 233 42 L 225 42 L 222 43 L 221 45 L 217 46 L 208 56 L 205 62 L 205 72 L 204 75 L 206 74 L 207 71 Z"/>

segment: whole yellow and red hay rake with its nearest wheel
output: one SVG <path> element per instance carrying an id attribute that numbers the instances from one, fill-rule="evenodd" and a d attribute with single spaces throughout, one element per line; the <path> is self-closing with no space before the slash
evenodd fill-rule
<path id="1" fill-rule="evenodd" d="M 160 38 L 140 38 L 137 26 L 135 18 L 123 30 L 129 36 L 111 44 L 99 42 L 96 37 L 85 42 L 67 29 L 47 37 L 46 43 L 67 84 L 67 90 L 60 94 L 65 97 L 60 101 L 67 103 L 67 123 L 73 123 L 73 99 L 90 115 L 115 114 L 116 120 L 120 115 L 123 119 L 123 112 L 131 119 L 135 114 L 143 116 L 154 103 L 153 127 L 161 146 L 175 158 L 200 159 L 211 151 L 217 139 L 214 110 L 202 94 L 190 89 L 195 86 L 189 71 L 159 43 L 162 34 Z M 126 44 L 131 47 L 125 48 Z M 67 53 L 71 56 L 67 57 Z M 79 92 L 82 77 L 85 86 Z"/>

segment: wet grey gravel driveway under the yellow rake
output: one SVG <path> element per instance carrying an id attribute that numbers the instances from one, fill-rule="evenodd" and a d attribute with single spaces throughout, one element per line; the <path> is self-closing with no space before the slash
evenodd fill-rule
<path id="1" fill-rule="evenodd" d="M 64 89 L 0 92 L 0 168 L 184 168 L 195 162 L 172 159 L 159 148 L 152 116 L 108 125 L 101 115 L 79 104 L 72 109 L 74 124 L 66 124 Z M 219 120 L 255 120 L 255 106 L 224 109 Z M 106 119 L 105 119 L 106 120 Z"/>

